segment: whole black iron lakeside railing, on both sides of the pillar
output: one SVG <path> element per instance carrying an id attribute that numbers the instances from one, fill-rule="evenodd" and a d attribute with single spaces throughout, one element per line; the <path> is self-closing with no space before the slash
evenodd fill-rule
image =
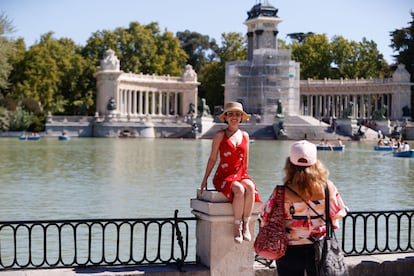
<path id="1" fill-rule="evenodd" d="M 414 252 L 414 210 L 349 212 L 347 256 Z M 0 221 L 0 270 L 196 262 L 195 217 Z M 269 266 L 272 262 L 256 257 Z"/>

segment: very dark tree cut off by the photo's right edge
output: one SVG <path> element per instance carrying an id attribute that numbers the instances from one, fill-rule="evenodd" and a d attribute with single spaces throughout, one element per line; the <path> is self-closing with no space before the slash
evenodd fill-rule
<path id="1" fill-rule="evenodd" d="M 409 26 L 391 32 L 391 48 L 398 52 L 395 55 L 397 63 L 402 63 L 411 75 L 414 82 L 414 12 L 410 12 Z M 414 117 L 414 88 L 411 87 L 411 117 Z"/>

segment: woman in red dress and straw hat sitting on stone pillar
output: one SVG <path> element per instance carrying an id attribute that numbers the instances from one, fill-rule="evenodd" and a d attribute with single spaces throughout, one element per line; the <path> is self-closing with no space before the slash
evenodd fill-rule
<path id="1" fill-rule="evenodd" d="M 217 157 L 220 163 L 213 177 L 217 191 L 222 192 L 232 203 L 234 215 L 234 241 L 251 241 L 249 221 L 254 202 L 261 202 L 256 184 L 248 174 L 249 134 L 239 129 L 239 124 L 248 120 L 248 115 L 239 102 L 228 102 L 218 115 L 227 127 L 217 131 L 213 138 L 210 157 L 207 162 L 201 192 L 207 189 L 207 180 Z"/>

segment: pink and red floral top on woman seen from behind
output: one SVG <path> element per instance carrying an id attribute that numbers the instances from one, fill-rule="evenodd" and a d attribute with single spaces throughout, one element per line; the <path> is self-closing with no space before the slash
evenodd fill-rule
<path id="1" fill-rule="evenodd" d="M 333 228 L 338 229 L 339 219 L 346 215 L 347 207 L 332 182 L 328 181 L 328 187 L 330 192 L 330 217 Z M 273 194 L 265 204 L 261 214 L 262 225 L 266 222 L 273 206 L 275 206 Z M 312 244 L 326 234 L 325 221 L 321 217 L 321 215 L 325 217 L 325 199 L 308 201 L 307 203 L 318 214 L 315 214 L 306 202 L 297 201 L 296 198 L 291 199 L 289 194 L 285 193 L 284 217 L 289 245 Z"/>

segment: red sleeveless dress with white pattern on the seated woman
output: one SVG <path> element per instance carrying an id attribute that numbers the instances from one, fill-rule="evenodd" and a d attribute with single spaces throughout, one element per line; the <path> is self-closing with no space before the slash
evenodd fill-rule
<path id="1" fill-rule="evenodd" d="M 213 178 L 213 184 L 217 191 L 222 192 L 230 202 L 233 202 L 233 191 L 231 190 L 234 181 L 253 179 L 247 173 L 246 154 L 247 139 L 243 135 L 240 145 L 237 147 L 230 141 L 226 134 L 220 143 L 220 163 Z M 255 185 L 255 202 L 261 202 Z"/>

